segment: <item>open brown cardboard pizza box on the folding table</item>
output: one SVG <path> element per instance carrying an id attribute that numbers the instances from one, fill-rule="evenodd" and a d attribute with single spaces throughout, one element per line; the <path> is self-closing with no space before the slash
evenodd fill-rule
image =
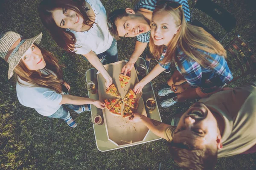
<path id="1" fill-rule="evenodd" d="M 134 85 L 139 82 L 135 68 L 131 70 L 131 80 L 124 87 L 121 88 L 119 82 L 119 74 L 121 73 L 122 67 L 125 65 L 125 61 L 119 61 L 111 64 L 104 65 L 108 74 L 112 77 L 113 83 L 116 85 L 121 98 L 123 99 L 128 93 L 129 89 L 133 89 Z M 99 72 L 97 73 L 99 100 L 112 99 L 114 96 L 106 94 L 105 79 Z M 137 94 L 136 97 L 139 99 L 139 106 L 136 113 L 141 113 L 147 116 L 145 105 L 142 96 L 142 92 Z M 123 106 L 122 106 L 123 109 Z M 108 140 L 116 144 L 117 146 L 131 144 L 143 141 L 148 134 L 148 128 L 141 122 L 130 122 L 129 118 L 122 118 L 122 116 L 116 116 L 109 112 L 107 108 L 103 109 L 103 117 L 105 127 L 108 135 Z"/>

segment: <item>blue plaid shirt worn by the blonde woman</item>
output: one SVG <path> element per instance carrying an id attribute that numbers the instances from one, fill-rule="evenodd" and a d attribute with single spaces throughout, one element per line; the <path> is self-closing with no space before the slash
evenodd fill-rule
<path id="1" fill-rule="evenodd" d="M 198 62 L 187 57 L 180 48 L 177 48 L 177 59 L 184 69 L 181 70 L 177 63 L 175 63 L 175 66 L 192 87 L 200 87 L 204 93 L 211 93 L 212 91 L 222 88 L 227 82 L 233 79 L 227 61 L 223 56 L 211 54 L 199 49 L 197 50 L 206 54 L 206 56 L 212 57 L 212 59 L 209 57 L 207 58 L 211 63 L 211 66 L 208 66 L 207 68 L 202 67 Z M 166 49 L 163 51 L 159 61 L 163 60 L 165 54 Z M 168 68 L 170 65 L 170 63 L 159 64 L 163 68 Z"/>

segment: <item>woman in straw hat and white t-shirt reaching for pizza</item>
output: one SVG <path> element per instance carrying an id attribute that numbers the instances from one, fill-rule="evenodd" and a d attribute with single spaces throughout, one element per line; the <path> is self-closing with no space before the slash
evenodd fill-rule
<path id="1" fill-rule="evenodd" d="M 0 34 L 0 57 L 9 63 L 8 79 L 15 74 L 20 104 L 35 108 L 43 116 L 64 119 L 70 127 L 76 127 L 76 122 L 63 105 L 76 113 L 90 111 L 90 104 L 101 109 L 105 105 L 99 100 L 63 92 L 64 88 L 69 90 L 70 85 L 62 79 L 58 60 L 38 46 L 41 38 L 42 33 L 30 39 L 12 31 Z"/>

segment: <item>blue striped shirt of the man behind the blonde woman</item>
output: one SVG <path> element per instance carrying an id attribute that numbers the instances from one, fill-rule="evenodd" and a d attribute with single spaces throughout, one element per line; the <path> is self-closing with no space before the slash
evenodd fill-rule
<path id="1" fill-rule="evenodd" d="M 173 0 L 182 5 L 182 9 L 184 11 L 185 19 L 187 22 L 190 21 L 190 11 L 189 11 L 189 5 L 187 0 Z M 156 7 L 155 4 L 157 3 L 157 0 L 140 0 L 137 5 L 134 7 L 134 10 L 137 11 L 140 8 L 148 9 L 150 11 L 154 11 L 154 8 Z M 137 35 L 137 41 L 140 42 L 149 42 L 150 39 L 150 31 L 142 33 L 140 35 Z"/>

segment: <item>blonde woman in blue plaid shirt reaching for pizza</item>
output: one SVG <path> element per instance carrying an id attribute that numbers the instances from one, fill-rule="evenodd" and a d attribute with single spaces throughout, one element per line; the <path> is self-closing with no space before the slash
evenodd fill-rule
<path id="1" fill-rule="evenodd" d="M 164 100 L 161 103 L 164 108 L 186 99 L 207 97 L 233 79 L 223 46 L 203 28 L 186 23 L 179 3 L 157 3 L 151 20 L 149 48 L 160 62 L 134 91 L 139 93 L 174 62 L 177 70 L 168 80 L 170 88 L 161 89 L 158 94 L 176 93 L 177 96 Z"/>

